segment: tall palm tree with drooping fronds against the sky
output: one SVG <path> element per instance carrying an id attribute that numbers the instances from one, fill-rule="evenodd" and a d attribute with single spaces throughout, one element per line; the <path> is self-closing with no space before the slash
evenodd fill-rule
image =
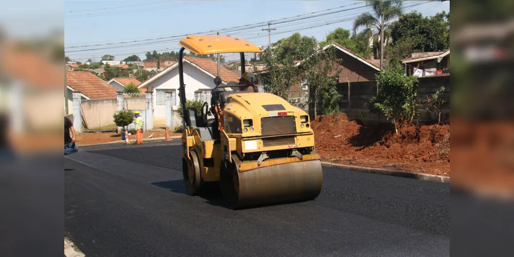
<path id="1" fill-rule="evenodd" d="M 402 14 L 402 3 L 399 0 L 369 0 L 366 2 L 367 6 L 373 8 L 373 14 L 365 12 L 359 15 L 353 22 L 353 33 L 355 34 L 358 28 L 364 27 L 363 33 L 373 36 L 374 42 L 378 42 L 377 38 L 380 37 L 380 70 L 382 70 L 384 36 L 388 34 L 387 28 L 391 25 L 391 21 Z"/>

